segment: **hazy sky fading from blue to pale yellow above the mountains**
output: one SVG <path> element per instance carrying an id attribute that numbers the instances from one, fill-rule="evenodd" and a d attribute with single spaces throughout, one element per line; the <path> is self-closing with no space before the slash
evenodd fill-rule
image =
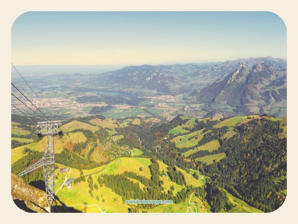
<path id="1" fill-rule="evenodd" d="M 286 59 L 271 12 L 27 12 L 12 27 L 15 65 L 139 65 Z"/>

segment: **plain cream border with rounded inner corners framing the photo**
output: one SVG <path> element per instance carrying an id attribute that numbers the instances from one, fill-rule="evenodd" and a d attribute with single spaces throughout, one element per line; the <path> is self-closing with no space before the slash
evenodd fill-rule
<path id="1" fill-rule="evenodd" d="M 295 1 L 6 1 L 1 4 L 1 220 L 10 223 L 292 223 L 297 211 L 297 7 Z M 288 35 L 288 196 L 268 214 L 29 214 L 10 196 L 10 35 L 14 20 L 27 11 L 271 11 L 286 24 Z M 262 22 L 262 21 L 260 21 Z M 296 111 L 295 111 L 296 109 Z M 296 113 L 295 113 L 296 112 Z M 296 116 L 295 116 L 296 115 Z M 296 128 L 294 128 L 296 127 Z"/>

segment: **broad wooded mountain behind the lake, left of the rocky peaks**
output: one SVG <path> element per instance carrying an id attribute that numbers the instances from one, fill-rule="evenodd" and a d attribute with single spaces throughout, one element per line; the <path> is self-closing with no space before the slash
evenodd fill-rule
<path id="1" fill-rule="evenodd" d="M 117 71 L 93 75 L 87 85 L 108 86 L 109 88 L 129 90 L 151 90 L 166 94 L 177 94 L 190 87 L 185 82 L 198 70 L 212 66 L 207 64 L 175 64 L 175 65 L 140 65 L 127 66 Z"/>

